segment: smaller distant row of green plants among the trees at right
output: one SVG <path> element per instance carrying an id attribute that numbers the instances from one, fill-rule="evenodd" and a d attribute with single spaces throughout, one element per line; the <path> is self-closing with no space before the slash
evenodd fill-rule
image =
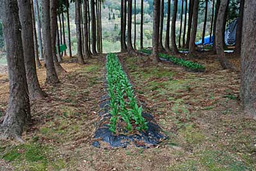
<path id="1" fill-rule="evenodd" d="M 143 52 L 145 54 L 151 54 L 152 53 L 152 51 L 148 50 L 148 49 L 141 49 L 140 52 Z M 164 59 L 168 59 L 168 60 L 172 61 L 172 63 L 174 63 L 174 64 L 179 64 L 180 66 L 184 66 L 184 67 L 192 69 L 192 70 L 199 70 L 199 71 L 205 70 L 204 65 L 198 64 L 198 63 L 193 63 L 191 61 L 186 61 L 186 60 L 184 60 L 182 58 L 179 58 L 179 57 L 169 56 L 168 54 L 159 54 L 159 57 L 162 57 Z"/>

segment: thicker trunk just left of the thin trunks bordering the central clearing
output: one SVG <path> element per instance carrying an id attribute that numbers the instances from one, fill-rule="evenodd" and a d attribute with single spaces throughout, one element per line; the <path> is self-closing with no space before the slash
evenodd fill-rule
<path id="1" fill-rule="evenodd" d="M 91 0 L 91 17 L 92 17 L 92 54 L 97 56 L 96 51 L 96 17 L 95 17 L 95 1 Z"/>

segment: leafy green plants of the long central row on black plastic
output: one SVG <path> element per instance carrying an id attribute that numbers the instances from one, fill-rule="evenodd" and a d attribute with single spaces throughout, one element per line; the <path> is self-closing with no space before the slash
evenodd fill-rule
<path id="1" fill-rule="evenodd" d="M 122 70 L 116 54 L 108 54 L 106 70 L 111 108 L 109 130 L 116 133 L 116 124 L 118 121 L 124 121 L 125 128 L 129 132 L 133 130 L 133 124 L 136 125 L 136 130 L 147 131 L 148 126 L 142 116 L 142 107 L 138 107 L 132 85 Z"/>

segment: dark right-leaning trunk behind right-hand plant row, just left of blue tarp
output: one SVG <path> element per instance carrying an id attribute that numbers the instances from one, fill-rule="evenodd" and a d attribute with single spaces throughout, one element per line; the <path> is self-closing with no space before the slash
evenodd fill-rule
<path id="1" fill-rule="evenodd" d="M 198 19 L 198 5 L 199 0 L 194 1 L 193 6 L 193 22 L 192 22 L 192 31 L 191 36 L 189 40 L 189 56 L 196 56 L 196 46 L 195 46 L 195 40 L 196 40 L 196 30 L 197 30 L 197 19 Z"/>

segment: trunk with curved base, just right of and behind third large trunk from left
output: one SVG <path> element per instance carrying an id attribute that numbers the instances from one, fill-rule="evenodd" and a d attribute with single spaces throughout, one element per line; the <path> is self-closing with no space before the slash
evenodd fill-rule
<path id="1" fill-rule="evenodd" d="M 61 59 L 57 58 L 56 55 L 56 30 L 57 30 L 57 0 L 51 0 L 51 10 L 50 10 L 50 15 L 51 15 L 51 43 L 52 43 L 52 56 L 53 56 L 53 62 L 54 62 L 54 67 L 56 69 L 57 73 L 65 72 L 65 70 L 62 68 L 60 65 L 59 61 Z M 60 15 L 59 15 L 60 16 Z M 61 24 L 61 20 L 60 20 Z M 60 26 L 61 30 L 61 26 Z"/>

